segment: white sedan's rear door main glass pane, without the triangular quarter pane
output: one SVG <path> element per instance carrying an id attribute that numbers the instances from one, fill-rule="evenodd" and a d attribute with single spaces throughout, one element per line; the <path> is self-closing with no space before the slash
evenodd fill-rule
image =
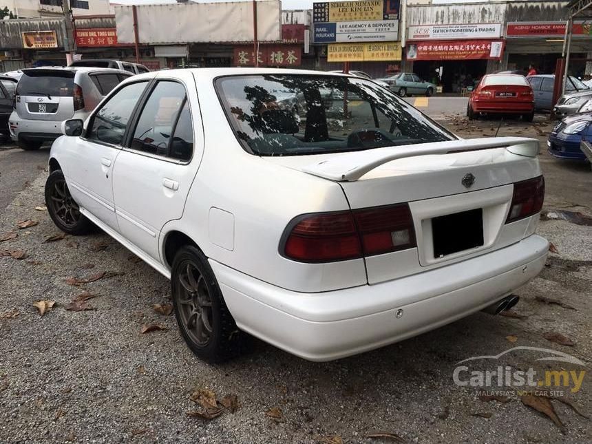
<path id="1" fill-rule="evenodd" d="M 180 83 L 161 81 L 142 109 L 131 148 L 158 156 L 169 155 L 169 142 L 185 99 Z"/>

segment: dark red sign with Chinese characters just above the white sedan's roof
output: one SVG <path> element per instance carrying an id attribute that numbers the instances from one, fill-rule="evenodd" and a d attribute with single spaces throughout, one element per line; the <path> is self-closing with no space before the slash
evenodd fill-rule
<path id="1" fill-rule="evenodd" d="M 300 66 L 302 49 L 299 45 L 260 45 L 257 66 Z M 254 66 L 253 45 L 234 47 L 235 66 Z"/>

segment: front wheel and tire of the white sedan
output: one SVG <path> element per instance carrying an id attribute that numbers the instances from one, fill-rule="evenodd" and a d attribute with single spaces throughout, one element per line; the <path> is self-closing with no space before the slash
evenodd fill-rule
<path id="1" fill-rule="evenodd" d="M 64 233 L 82 235 L 92 231 L 94 225 L 81 214 L 61 169 L 57 169 L 45 182 L 45 206 L 54 224 Z"/>

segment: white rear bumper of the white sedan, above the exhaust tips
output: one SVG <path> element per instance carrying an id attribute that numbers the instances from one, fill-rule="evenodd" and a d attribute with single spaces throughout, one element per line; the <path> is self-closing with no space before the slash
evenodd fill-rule
<path id="1" fill-rule="evenodd" d="M 237 326 L 310 361 L 330 361 L 419 335 L 485 308 L 536 277 L 538 235 L 491 253 L 372 286 L 324 293 L 279 288 L 213 260 Z M 396 317 L 397 310 L 403 310 Z"/>

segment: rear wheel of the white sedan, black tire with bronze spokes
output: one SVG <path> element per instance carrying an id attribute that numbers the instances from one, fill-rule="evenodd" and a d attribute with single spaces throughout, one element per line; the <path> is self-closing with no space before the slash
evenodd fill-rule
<path id="1" fill-rule="evenodd" d="M 182 247 L 173 260 L 171 295 L 181 335 L 200 359 L 218 363 L 244 350 L 247 335 L 237 328 L 207 257 L 195 246 Z"/>

